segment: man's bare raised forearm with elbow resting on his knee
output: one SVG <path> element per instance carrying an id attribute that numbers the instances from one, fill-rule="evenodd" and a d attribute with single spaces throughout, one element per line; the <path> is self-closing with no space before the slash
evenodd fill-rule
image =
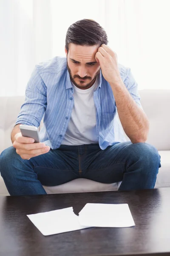
<path id="1" fill-rule="evenodd" d="M 149 131 L 146 114 L 136 104 L 123 82 L 111 84 L 122 127 L 132 143 L 145 142 Z"/>

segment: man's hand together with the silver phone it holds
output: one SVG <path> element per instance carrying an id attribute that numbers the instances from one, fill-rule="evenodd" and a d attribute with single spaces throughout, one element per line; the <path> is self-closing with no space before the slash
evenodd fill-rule
<path id="1" fill-rule="evenodd" d="M 50 150 L 49 146 L 46 146 L 45 143 L 34 143 L 35 141 L 40 141 L 38 136 L 38 131 L 36 131 L 34 126 L 24 125 L 25 130 L 23 131 L 23 125 L 21 126 L 20 133 L 15 134 L 13 146 L 16 148 L 17 154 L 20 155 L 22 159 L 29 160 L 31 157 L 36 157 L 41 154 L 45 154 Z M 34 128 L 33 128 L 34 127 Z M 28 132 L 27 132 L 28 131 Z M 31 131 L 31 134 L 30 134 Z M 32 134 L 32 131 L 36 131 L 36 133 Z M 23 134 L 22 134 L 23 133 Z M 36 134 L 36 135 L 35 135 Z M 25 135 L 25 136 L 23 136 Z M 29 137 L 29 136 L 32 137 Z M 36 137 L 37 136 L 37 137 Z"/>

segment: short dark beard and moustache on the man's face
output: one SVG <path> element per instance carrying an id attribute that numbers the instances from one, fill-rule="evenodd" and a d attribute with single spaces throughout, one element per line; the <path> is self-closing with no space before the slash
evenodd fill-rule
<path id="1" fill-rule="evenodd" d="M 96 81 L 96 77 L 99 75 L 99 73 L 100 73 L 100 68 L 99 68 L 99 70 L 96 72 L 96 74 L 95 74 L 95 76 L 94 76 L 94 79 L 90 82 L 90 83 L 88 83 L 88 84 L 86 84 L 86 85 L 83 85 L 83 83 L 85 82 L 85 81 L 80 81 L 79 82 L 79 84 L 77 84 L 76 83 L 76 81 L 74 81 L 74 79 L 75 78 L 79 78 L 79 79 L 81 79 L 82 77 L 80 77 L 80 76 L 78 76 L 78 75 L 74 75 L 74 76 L 72 76 L 71 75 L 71 69 L 69 68 L 69 66 L 68 66 L 68 61 L 67 61 L 67 68 L 68 68 L 68 73 L 69 73 L 69 75 L 70 75 L 70 79 L 71 79 L 71 81 L 73 82 L 73 84 L 76 86 L 76 87 L 78 87 L 79 89 L 88 89 L 88 88 L 90 88 L 90 87 L 92 87 L 92 85 L 94 84 L 94 82 Z M 85 76 L 85 77 L 83 77 L 83 79 L 91 79 L 91 77 L 90 76 Z"/>

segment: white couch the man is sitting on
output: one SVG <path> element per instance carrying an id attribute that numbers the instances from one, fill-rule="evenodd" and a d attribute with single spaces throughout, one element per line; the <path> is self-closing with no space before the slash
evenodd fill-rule
<path id="1" fill-rule="evenodd" d="M 161 155 L 161 168 L 155 187 L 167 187 L 170 186 L 170 90 L 139 90 L 139 94 L 150 121 L 147 143 L 154 145 Z M 12 145 L 10 134 L 24 99 L 25 96 L 0 97 L 0 153 Z M 104 184 L 79 178 L 59 186 L 44 188 L 47 193 L 68 193 L 117 190 L 119 185 L 120 183 Z M 1 176 L 0 195 L 8 195 Z"/>

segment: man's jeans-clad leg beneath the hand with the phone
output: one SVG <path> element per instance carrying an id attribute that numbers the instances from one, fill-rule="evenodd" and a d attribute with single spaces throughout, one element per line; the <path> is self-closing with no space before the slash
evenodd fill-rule
<path id="1" fill-rule="evenodd" d="M 76 150 L 56 149 L 22 159 L 11 146 L 0 154 L 0 174 L 12 195 L 43 194 L 42 185 L 57 186 L 78 178 Z"/>

